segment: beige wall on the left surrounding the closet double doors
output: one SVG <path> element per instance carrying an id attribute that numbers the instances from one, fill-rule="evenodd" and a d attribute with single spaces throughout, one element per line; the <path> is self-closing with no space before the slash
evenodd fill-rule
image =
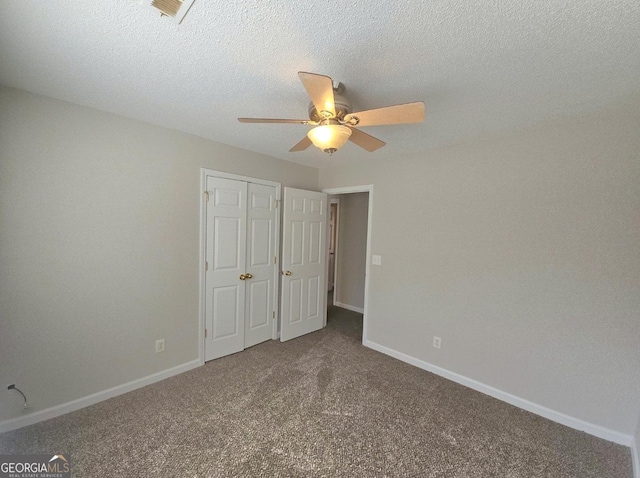
<path id="1" fill-rule="evenodd" d="M 0 421 L 197 359 L 200 168 L 318 171 L 0 88 Z M 166 339 L 155 354 L 154 342 Z"/>

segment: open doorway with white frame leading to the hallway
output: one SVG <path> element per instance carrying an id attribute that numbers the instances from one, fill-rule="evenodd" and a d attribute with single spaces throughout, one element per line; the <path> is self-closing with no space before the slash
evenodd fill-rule
<path id="1" fill-rule="evenodd" d="M 330 203 L 328 313 L 330 316 L 343 316 L 346 311 L 362 314 L 364 342 L 373 186 L 325 189 L 323 192 L 329 194 Z"/>

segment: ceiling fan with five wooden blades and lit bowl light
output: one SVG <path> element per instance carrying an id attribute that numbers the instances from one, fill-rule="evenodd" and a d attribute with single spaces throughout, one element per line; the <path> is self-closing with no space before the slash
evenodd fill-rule
<path id="1" fill-rule="evenodd" d="M 315 126 L 290 152 L 304 151 L 311 144 L 325 153 L 333 154 L 347 141 L 352 141 L 369 152 L 386 143 L 374 138 L 356 126 L 421 123 L 424 121 L 424 103 L 406 103 L 373 110 L 351 111 L 351 102 L 343 96 L 345 87 L 331 78 L 316 73 L 298 72 L 311 103 L 309 119 L 238 118 L 241 123 L 294 123 Z"/>

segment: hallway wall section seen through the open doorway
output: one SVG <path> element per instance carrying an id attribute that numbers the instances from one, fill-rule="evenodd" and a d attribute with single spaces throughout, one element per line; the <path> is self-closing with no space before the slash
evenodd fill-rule
<path id="1" fill-rule="evenodd" d="M 338 227 L 338 274 L 334 292 L 337 305 L 364 308 L 367 260 L 369 193 L 334 196 L 340 199 Z"/>

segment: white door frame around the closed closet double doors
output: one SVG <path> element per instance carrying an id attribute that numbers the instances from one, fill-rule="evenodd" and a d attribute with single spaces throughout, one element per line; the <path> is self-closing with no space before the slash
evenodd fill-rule
<path id="1" fill-rule="evenodd" d="M 245 181 L 248 183 L 262 184 L 264 186 L 273 186 L 276 188 L 276 263 L 273 268 L 273 308 L 275 311 L 275 318 L 272 318 L 271 322 L 271 339 L 276 340 L 278 338 L 278 322 L 280 318 L 280 198 L 282 194 L 282 184 L 275 181 L 269 181 L 266 179 L 253 178 L 250 176 L 241 176 L 239 174 L 226 173 L 224 171 L 217 171 L 215 169 L 200 168 L 200 257 L 198 260 L 199 268 L 199 311 L 198 311 L 198 361 L 200 365 L 205 363 L 205 258 L 207 248 L 207 201 L 205 199 L 205 192 L 207 191 L 207 177 L 216 177 L 223 179 L 233 179 L 236 181 Z"/>

